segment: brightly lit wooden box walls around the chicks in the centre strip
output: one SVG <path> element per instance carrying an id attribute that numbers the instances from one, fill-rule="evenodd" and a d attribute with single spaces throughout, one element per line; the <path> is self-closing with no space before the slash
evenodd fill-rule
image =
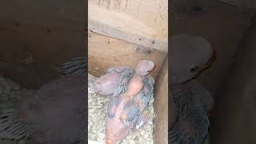
<path id="1" fill-rule="evenodd" d="M 96 77 L 112 66 L 154 62 L 154 142 L 167 143 L 168 1 L 90 0 L 88 31 L 88 70 Z"/>

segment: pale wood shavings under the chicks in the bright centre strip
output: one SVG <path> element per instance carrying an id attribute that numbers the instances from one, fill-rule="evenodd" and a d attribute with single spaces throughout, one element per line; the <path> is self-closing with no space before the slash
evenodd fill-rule
<path id="1" fill-rule="evenodd" d="M 94 142 L 105 143 L 106 141 L 106 114 L 107 105 L 110 101 L 108 97 L 95 94 L 91 86 L 95 82 L 93 75 L 88 74 L 88 139 Z M 119 143 L 126 144 L 153 144 L 153 118 L 154 118 L 154 98 L 151 98 L 148 109 L 144 110 L 149 119 L 148 123 L 139 130 L 130 131 L 130 134 Z"/>

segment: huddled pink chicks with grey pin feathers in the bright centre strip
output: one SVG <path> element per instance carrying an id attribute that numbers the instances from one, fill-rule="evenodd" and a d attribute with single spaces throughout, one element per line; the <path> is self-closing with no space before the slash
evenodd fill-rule
<path id="1" fill-rule="evenodd" d="M 121 141 L 131 130 L 146 124 L 143 113 L 154 94 L 154 78 L 150 72 L 154 62 L 142 60 L 135 70 L 129 67 L 112 67 L 107 74 L 94 82 L 93 90 L 109 96 L 106 118 L 106 143 Z"/>

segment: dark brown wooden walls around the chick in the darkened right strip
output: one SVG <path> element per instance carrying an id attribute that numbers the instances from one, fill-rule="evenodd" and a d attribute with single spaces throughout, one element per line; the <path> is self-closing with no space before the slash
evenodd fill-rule
<path id="1" fill-rule="evenodd" d="M 210 143 L 256 143 L 255 2 L 193 0 L 190 6 L 186 0 L 174 2 L 176 10 L 188 11 L 170 24 L 172 34 L 206 38 L 217 51 L 214 64 L 198 77 L 215 99 Z"/>

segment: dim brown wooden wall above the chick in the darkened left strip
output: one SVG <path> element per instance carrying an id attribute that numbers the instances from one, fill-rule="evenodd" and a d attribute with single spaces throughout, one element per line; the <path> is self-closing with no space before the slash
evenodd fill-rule
<path id="1" fill-rule="evenodd" d="M 83 1 L 8 0 L 0 5 L 0 74 L 37 88 L 85 53 Z"/>

